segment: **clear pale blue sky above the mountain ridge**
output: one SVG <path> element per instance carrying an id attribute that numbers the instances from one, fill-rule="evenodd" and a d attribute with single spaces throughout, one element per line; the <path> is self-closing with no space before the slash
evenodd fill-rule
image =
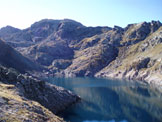
<path id="1" fill-rule="evenodd" d="M 0 0 L 0 15 L 0 28 L 24 29 L 45 18 L 125 27 L 142 21 L 162 22 L 162 0 Z"/>

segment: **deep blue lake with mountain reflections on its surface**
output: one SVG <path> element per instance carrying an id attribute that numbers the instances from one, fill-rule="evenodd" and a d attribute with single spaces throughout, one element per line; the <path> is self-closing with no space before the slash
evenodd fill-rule
<path id="1" fill-rule="evenodd" d="M 162 122 L 162 94 L 137 83 L 97 78 L 51 78 L 82 101 L 64 113 L 71 122 Z"/>

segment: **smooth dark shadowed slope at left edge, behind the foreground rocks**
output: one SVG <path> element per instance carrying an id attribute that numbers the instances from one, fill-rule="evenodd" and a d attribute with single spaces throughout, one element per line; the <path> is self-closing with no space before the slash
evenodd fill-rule
<path id="1" fill-rule="evenodd" d="M 41 68 L 38 64 L 30 61 L 14 50 L 8 44 L 0 39 L 0 64 L 7 67 L 12 67 L 20 72 L 39 71 Z"/>

